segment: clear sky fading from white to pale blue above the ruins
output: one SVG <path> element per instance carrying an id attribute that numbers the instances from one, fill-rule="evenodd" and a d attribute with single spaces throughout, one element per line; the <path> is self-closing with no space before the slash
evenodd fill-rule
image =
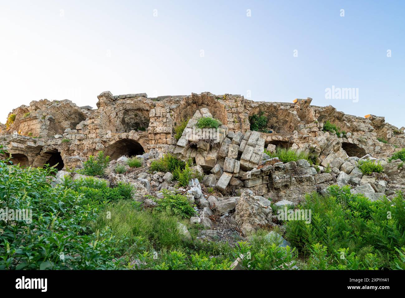
<path id="1" fill-rule="evenodd" d="M 0 122 L 44 98 L 96 108 L 109 90 L 311 97 L 405 126 L 404 13 L 405 1 L 0 0 Z M 333 86 L 358 101 L 326 98 Z"/>

